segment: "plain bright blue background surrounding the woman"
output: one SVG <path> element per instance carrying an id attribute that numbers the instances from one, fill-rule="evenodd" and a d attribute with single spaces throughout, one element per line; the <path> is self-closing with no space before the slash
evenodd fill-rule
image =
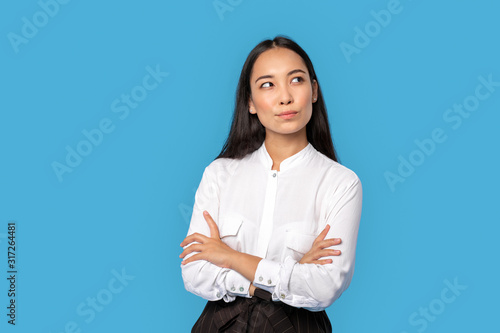
<path id="1" fill-rule="evenodd" d="M 334 332 L 498 327 L 500 87 L 458 128 L 443 118 L 474 96 L 478 77 L 500 81 L 498 2 L 401 0 L 378 30 L 371 11 L 391 1 L 220 3 L 218 13 L 213 1 L 70 1 L 47 7 L 52 15 L 34 0 L 2 5 L 0 330 L 190 330 L 205 305 L 184 289 L 178 258 L 194 192 L 227 136 L 248 52 L 277 34 L 310 55 L 341 162 L 363 183 L 356 272 L 327 309 Z M 23 18 L 40 25 L 24 27 L 29 38 Z M 346 56 L 356 28 L 372 37 Z M 148 66 L 168 76 L 121 119 L 113 101 L 139 93 Z M 103 119 L 113 131 L 59 179 L 53 163 Z M 415 152 L 439 128 L 446 140 Z M 386 172 L 411 154 L 419 165 L 391 188 Z M 105 305 L 91 318 L 96 297 Z"/>

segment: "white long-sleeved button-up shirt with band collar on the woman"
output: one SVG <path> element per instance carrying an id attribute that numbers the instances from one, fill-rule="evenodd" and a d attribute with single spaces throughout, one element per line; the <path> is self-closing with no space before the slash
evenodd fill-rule
<path id="1" fill-rule="evenodd" d="M 274 301 L 321 311 L 349 286 L 354 272 L 361 218 L 362 187 L 350 169 L 318 152 L 310 143 L 271 170 L 265 144 L 243 159 L 219 158 L 203 173 L 195 195 L 188 235 L 210 236 L 207 210 L 231 248 L 263 258 L 249 281 L 238 272 L 197 260 L 181 265 L 186 289 L 209 301 L 249 295 L 250 282 Z M 299 264 L 315 238 L 341 238 L 331 247 L 340 256 L 331 264 Z M 194 255 L 191 253 L 189 256 Z M 187 257 L 189 257 L 187 256 Z"/>

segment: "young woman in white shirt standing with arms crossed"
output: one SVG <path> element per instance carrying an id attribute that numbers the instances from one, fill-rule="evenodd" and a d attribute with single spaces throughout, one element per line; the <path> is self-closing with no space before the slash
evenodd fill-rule
<path id="1" fill-rule="evenodd" d="M 351 281 L 361 202 L 309 57 L 285 37 L 261 42 L 180 244 L 184 285 L 208 300 L 192 331 L 331 332 L 325 309 Z"/>

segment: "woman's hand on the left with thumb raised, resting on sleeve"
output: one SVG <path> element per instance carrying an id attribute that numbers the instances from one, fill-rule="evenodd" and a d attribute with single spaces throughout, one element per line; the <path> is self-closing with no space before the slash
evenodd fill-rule
<path id="1" fill-rule="evenodd" d="M 184 258 L 191 252 L 199 253 L 183 260 L 182 264 L 185 265 L 195 260 L 207 260 L 216 266 L 231 268 L 231 260 L 237 251 L 233 250 L 220 239 L 219 228 L 217 228 L 217 224 L 212 219 L 210 214 L 207 211 L 204 211 L 203 216 L 205 217 L 205 221 L 207 221 L 208 227 L 210 228 L 210 237 L 194 233 L 184 238 L 180 244 L 182 247 L 193 242 L 198 242 L 199 244 L 192 244 L 188 246 L 184 249 L 184 251 L 182 251 L 179 257 Z"/>

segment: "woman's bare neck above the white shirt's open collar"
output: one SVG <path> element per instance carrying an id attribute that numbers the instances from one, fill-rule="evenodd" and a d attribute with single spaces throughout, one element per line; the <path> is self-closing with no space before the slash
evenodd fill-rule
<path id="1" fill-rule="evenodd" d="M 266 150 L 273 160 L 272 170 L 280 171 L 285 159 L 300 152 L 308 145 L 307 136 L 267 135 L 264 140 Z"/>

